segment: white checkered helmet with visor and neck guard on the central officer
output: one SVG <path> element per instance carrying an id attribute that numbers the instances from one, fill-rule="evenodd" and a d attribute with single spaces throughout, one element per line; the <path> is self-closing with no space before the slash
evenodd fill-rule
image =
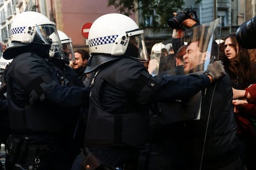
<path id="1" fill-rule="evenodd" d="M 143 30 L 139 29 L 132 18 L 123 14 L 105 14 L 97 18 L 90 27 L 88 41 L 92 61 L 88 61 L 85 73 L 93 71 L 102 63 L 118 59 L 115 56 L 126 55 L 143 61 L 148 60 Z M 99 56 L 103 59 L 93 61 L 93 58 Z"/>

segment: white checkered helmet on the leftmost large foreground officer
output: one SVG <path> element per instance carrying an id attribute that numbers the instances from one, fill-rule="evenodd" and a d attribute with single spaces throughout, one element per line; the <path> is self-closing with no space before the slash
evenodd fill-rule
<path id="1" fill-rule="evenodd" d="M 53 39 L 55 41 L 54 46 L 52 46 Z M 22 12 L 15 16 L 11 24 L 11 42 L 11 46 L 4 52 L 6 53 L 4 54 L 5 59 L 12 59 L 11 57 L 13 57 L 8 53 L 9 49 L 32 43 L 51 46 L 50 51 L 53 52 L 58 51 L 55 47 L 61 46 L 55 23 L 51 22 L 45 15 L 33 11 Z M 58 46 L 56 46 L 57 43 Z"/>

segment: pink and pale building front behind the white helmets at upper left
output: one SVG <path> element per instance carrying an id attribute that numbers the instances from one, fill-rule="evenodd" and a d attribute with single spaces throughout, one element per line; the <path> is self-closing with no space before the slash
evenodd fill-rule
<path id="1" fill-rule="evenodd" d="M 100 5 L 99 5 L 100 4 Z M 101 0 L 0 0 L 0 42 L 10 44 L 9 30 L 16 14 L 33 10 L 46 15 L 56 23 L 57 29 L 72 38 L 74 47 L 84 47 L 82 25 L 92 23 L 100 15 L 117 12 L 114 7 L 108 7 L 108 1 Z"/>

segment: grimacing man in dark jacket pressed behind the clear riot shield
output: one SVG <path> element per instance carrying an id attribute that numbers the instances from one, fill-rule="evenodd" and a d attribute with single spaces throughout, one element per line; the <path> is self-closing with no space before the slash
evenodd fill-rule
<path id="1" fill-rule="evenodd" d="M 218 47 L 215 46 L 213 43 L 211 56 L 218 54 Z M 200 49 L 199 41 L 190 42 L 184 55 L 184 72 L 202 70 L 205 61 L 203 56 L 205 54 Z M 195 65 L 194 62 L 200 65 Z M 216 84 L 207 87 L 202 96 L 201 118 L 187 122 L 181 140 L 178 137 L 174 139 L 180 142 L 177 145 L 186 148 L 184 155 L 187 156 L 184 160 L 187 163 L 182 166 L 187 169 L 240 168 L 230 82 L 229 76 L 223 76 Z M 181 164 L 177 164 L 179 166 Z"/>

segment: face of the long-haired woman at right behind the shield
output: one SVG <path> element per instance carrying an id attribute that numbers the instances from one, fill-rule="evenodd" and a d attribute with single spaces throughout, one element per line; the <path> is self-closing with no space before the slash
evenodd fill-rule
<path id="1" fill-rule="evenodd" d="M 226 57 L 228 57 L 229 60 L 236 58 L 237 51 L 239 51 L 238 44 L 233 44 L 231 41 L 231 38 L 227 38 L 224 42 L 224 51 Z"/>

